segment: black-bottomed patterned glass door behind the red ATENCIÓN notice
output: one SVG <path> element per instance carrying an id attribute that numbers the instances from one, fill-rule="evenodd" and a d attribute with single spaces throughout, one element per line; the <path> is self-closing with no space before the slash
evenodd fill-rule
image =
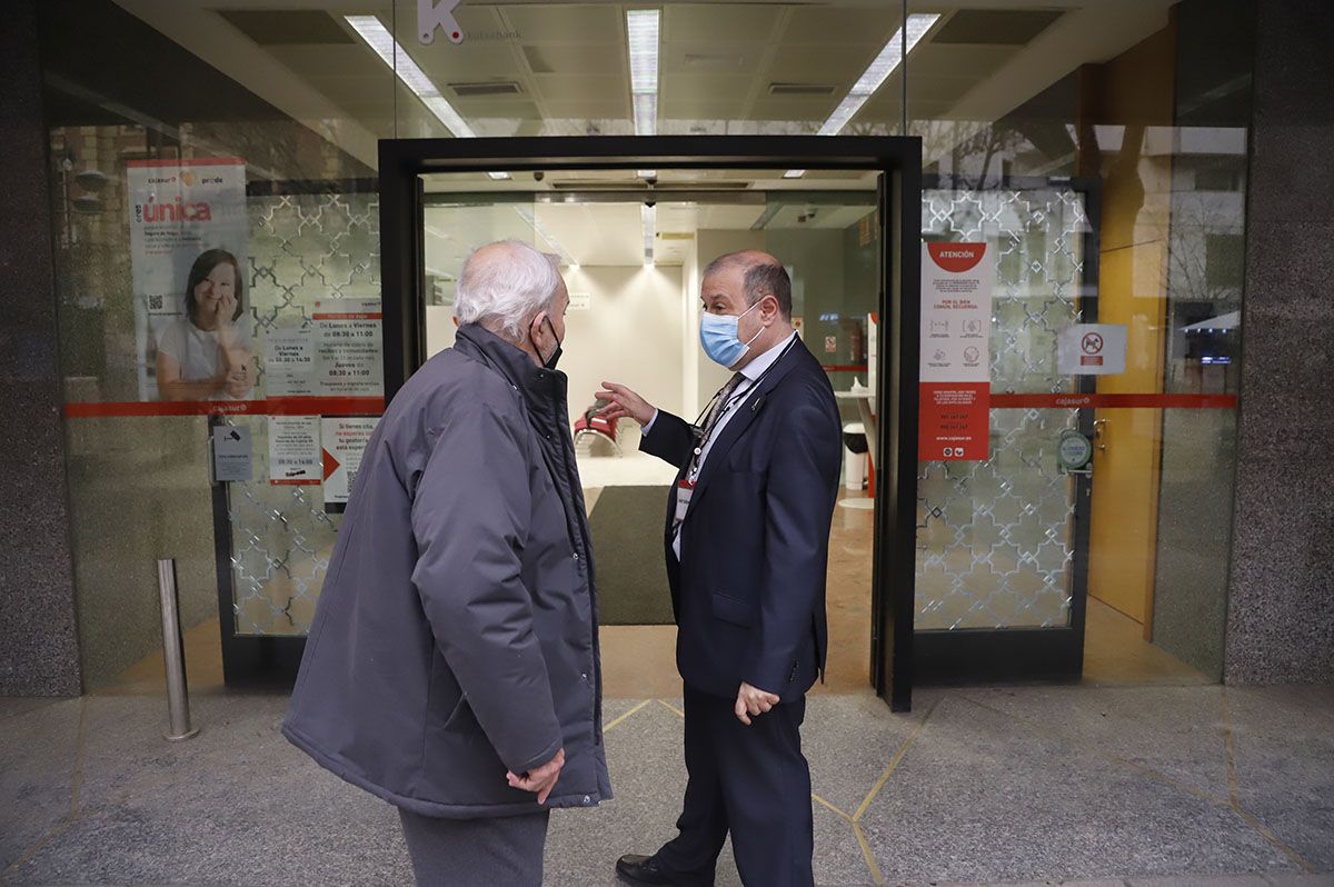
<path id="1" fill-rule="evenodd" d="M 1091 452 L 1093 411 L 1071 400 L 1091 381 L 1061 367 L 1059 341 L 1097 321 L 1097 192 L 1007 185 L 922 192 L 926 241 L 995 256 L 990 458 L 919 467 L 915 655 L 932 683 L 1070 680 L 1083 660 L 1093 468 L 1062 444 Z"/>

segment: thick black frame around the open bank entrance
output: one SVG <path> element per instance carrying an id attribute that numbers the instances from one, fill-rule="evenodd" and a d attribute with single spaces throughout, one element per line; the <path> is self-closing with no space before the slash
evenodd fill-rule
<path id="1" fill-rule="evenodd" d="M 912 694 L 916 555 L 918 332 L 922 143 L 866 136 L 591 136 L 380 141 L 384 396 L 426 356 L 420 175 L 504 169 L 868 169 L 879 176 L 882 280 L 871 678 L 894 711 Z M 907 215 L 904 215 L 907 213 Z"/>

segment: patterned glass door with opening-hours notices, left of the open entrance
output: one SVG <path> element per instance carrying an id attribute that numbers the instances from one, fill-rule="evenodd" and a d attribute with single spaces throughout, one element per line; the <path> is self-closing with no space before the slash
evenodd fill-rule
<path id="1" fill-rule="evenodd" d="M 208 416 L 223 672 L 228 686 L 289 684 L 347 499 L 329 471 L 336 428 L 383 408 L 375 180 L 251 183 L 245 311 L 249 400 Z M 223 475 L 221 447 L 244 471 Z"/>

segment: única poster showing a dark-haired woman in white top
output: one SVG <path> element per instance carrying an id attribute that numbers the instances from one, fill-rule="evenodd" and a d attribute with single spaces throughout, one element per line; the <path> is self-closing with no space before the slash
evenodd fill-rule
<path id="1" fill-rule="evenodd" d="M 131 160 L 140 400 L 248 400 L 245 161 Z"/>

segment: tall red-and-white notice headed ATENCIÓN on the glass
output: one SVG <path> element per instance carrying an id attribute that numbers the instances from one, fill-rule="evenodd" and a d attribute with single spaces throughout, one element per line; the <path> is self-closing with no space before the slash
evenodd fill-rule
<path id="1" fill-rule="evenodd" d="M 922 462 L 990 458 L 994 284 L 987 244 L 922 244 Z"/>

